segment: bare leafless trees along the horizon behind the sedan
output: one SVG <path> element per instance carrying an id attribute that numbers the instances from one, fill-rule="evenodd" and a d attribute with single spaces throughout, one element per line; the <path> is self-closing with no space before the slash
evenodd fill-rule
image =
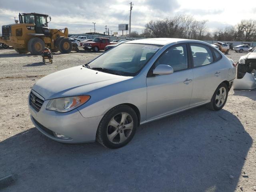
<path id="1" fill-rule="evenodd" d="M 210 32 L 207 20 L 196 20 L 190 15 L 177 15 L 163 20 L 151 20 L 145 25 L 144 36 L 156 38 L 185 38 L 218 41 L 256 41 L 256 20 L 241 20 L 235 26 L 226 26 Z"/>

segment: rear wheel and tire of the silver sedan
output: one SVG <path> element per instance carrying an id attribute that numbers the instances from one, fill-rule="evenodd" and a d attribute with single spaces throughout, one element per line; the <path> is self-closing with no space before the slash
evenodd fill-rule
<path id="1" fill-rule="evenodd" d="M 210 110 L 221 110 L 226 104 L 228 98 L 228 86 L 225 83 L 221 83 L 214 92 L 211 102 L 207 104 Z"/>

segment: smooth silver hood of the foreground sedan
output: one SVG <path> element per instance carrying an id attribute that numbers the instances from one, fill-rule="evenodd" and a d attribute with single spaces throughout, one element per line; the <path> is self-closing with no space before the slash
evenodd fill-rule
<path id="1" fill-rule="evenodd" d="M 32 90 L 45 100 L 86 94 L 132 77 L 108 74 L 83 66 L 64 69 L 47 75 L 34 84 Z"/>

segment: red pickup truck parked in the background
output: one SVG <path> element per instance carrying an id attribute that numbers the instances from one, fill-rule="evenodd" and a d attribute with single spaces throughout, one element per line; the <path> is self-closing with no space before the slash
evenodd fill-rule
<path id="1" fill-rule="evenodd" d="M 107 45 L 116 44 L 110 43 L 108 38 L 96 37 L 92 41 L 84 42 L 82 48 L 84 50 L 93 50 L 98 52 L 99 50 L 104 50 Z"/>

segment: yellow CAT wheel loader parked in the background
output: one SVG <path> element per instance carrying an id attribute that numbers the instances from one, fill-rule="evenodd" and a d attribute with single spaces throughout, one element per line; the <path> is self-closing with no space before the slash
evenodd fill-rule
<path id="1" fill-rule="evenodd" d="M 48 15 L 38 13 L 19 14 L 19 24 L 2 26 L 0 43 L 13 46 L 18 53 L 41 54 L 47 47 L 51 52 L 70 53 L 72 43 L 68 39 L 68 28 L 50 29 Z M 49 17 L 51 20 L 51 17 Z"/>

